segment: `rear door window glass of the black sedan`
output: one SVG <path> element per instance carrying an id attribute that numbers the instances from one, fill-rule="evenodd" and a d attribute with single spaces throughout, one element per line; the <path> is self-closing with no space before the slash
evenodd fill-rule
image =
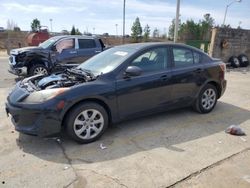
<path id="1" fill-rule="evenodd" d="M 186 48 L 173 48 L 173 58 L 175 67 L 186 67 L 194 64 L 192 50 Z"/>

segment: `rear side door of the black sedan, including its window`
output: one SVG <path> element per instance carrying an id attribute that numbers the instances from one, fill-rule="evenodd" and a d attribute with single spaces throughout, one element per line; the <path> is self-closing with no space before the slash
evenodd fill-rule
<path id="1" fill-rule="evenodd" d="M 172 97 L 175 103 L 189 104 L 206 80 L 201 54 L 192 49 L 172 46 Z"/>

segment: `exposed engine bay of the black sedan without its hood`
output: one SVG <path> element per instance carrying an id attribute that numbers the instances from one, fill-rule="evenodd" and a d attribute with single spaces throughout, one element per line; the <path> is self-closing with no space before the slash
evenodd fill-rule
<path id="1" fill-rule="evenodd" d="M 89 70 L 73 68 L 67 69 L 61 73 L 52 74 L 50 76 L 35 75 L 29 78 L 25 78 L 20 83 L 20 86 L 32 92 L 34 90 L 39 91 L 44 89 L 71 87 L 95 79 L 96 76 L 94 76 L 94 74 Z"/>

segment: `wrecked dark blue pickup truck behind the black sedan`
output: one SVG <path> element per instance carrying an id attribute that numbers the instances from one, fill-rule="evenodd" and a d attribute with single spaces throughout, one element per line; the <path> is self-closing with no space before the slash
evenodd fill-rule
<path id="1" fill-rule="evenodd" d="M 18 76 L 50 74 L 77 66 L 105 49 L 100 38 L 83 35 L 56 36 L 39 46 L 11 50 L 9 72 Z"/>

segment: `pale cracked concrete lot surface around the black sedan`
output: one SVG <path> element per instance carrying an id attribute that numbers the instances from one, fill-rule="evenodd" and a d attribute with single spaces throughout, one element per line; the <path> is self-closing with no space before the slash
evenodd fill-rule
<path id="1" fill-rule="evenodd" d="M 0 187 L 250 187 L 248 69 L 227 73 L 226 93 L 209 114 L 186 108 L 126 121 L 79 145 L 64 134 L 14 131 L 4 108 L 15 83 L 7 67 L 0 56 Z M 226 134 L 232 124 L 247 136 Z"/>

